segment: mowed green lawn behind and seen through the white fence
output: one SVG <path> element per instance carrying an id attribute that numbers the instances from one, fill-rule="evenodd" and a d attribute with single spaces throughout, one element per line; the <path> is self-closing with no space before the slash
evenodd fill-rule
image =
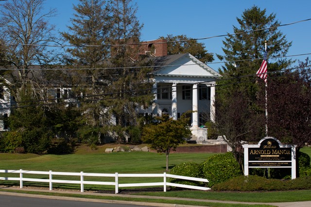
<path id="1" fill-rule="evenodd" d="M 107 174 L 164 173 L 166 157 L 153 152 L 103 153 L 103 149 L 86 152 L 87 148 L 69 155 L 0 154 L 1 170 L 57 171 Z M 172 153 L 170 168 L 183 162 L 203 162 L 213 153 Z M 11 157 L 12 156 L 12 157 Z M 18 177 L 19 174 L 0 174 L 1 177 Z M 25 174 L 23 177 L 48 179 L 48 175 Z M 53 175 L 53 179 L 79 180 L 80 176 Z M 85 177 L 90 181 L 114 182 L 114 177 Z M 163 178 L 119 178 L 119 183 L 163 182 Z M 0 185 L 19 185 L 16 181 L 0 181 Z M 24 182 L 25 186 L 48 187 L 48 183 Z M 79 185 L 53 183 L 53 188 L 79 189 Z M 86 190 L 112 190 L 114 186 L 85 185 Z"/>

